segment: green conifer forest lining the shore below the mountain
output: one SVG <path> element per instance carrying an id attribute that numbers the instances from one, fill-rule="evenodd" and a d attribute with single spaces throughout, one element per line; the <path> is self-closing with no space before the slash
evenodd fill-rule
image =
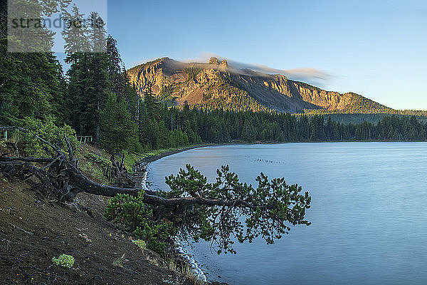
<path id="1" fill-rule="evenodd" d="M 171 108 L 156 100 L 149 90 L 144 96 L 138 95 L 122 66 L 115 40 L 108 36 L 107 43 L 107 54 L 68 56 L 71 67 L 66 76 L 52 54 L 36 55 L 38 60 L 8 54 L 9 64 L 19 60 L 28 68 L 27 73 L 14 77 L 16 83 L 3 79 L 6 88 L 1 91 L 1 124 L 27 128 L 48 122 L 68 124 L 78 135 L 93 135 L 112 152 L 141 152 L 201 142 L 427 139 L 426 124 L 415 117 L 384 117 L 377 124 L 343 124 L 325 120 L 322 115 L 201 110 L 186 103 L 182 108 Z M 38 75 L 38 88 L 25 88 L 23 83 L 36 68 L 51 68 L 51 73 Z M 43 81 L 47 74 L 51 80 Z"/>

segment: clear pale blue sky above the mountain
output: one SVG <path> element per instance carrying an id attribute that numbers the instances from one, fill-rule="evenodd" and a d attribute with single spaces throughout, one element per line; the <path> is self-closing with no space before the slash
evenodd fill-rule
<path id="1" fill-rule="evenodd" d="M 427 1 L 108 1 L 126 67 L 217 54 L 315 68 L 317 86 L 427 110 Z"/>

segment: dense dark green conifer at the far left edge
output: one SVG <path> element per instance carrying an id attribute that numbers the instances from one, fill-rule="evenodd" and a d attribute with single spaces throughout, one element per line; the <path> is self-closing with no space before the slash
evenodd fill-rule
<path id="1" fill-rule="evenodd" d="M 9 5 L 18 5 L 18 11 L 28 6 L 34 16 L 51 15 L 58 11 L 65 1 L 50 1 L 37 4 L 28 1 L 11 1 Z M 31 6 L 31 7 L 29 7 Z M 11 11 L 14 11 L 13 7 Z M 0 123 L 3 125 L 22 125 L 24 118 L 32 117 L 46 120 L 58 117 L 62 123 L 61 110 L 63 78 L 61 66 L 56 56 L 49 50 L 53 45 L 53 34 L 44 28 L 38 28 L 40 35 L 26 39 L 9 38 L 9 43 L 23 44 L 21 48 L 34 46 L 33 53 L 9 53 L 7 36 L 6 1 L 0 4 Z M 9 15 L 12 16 L 12 15 Z M 16 41 L 15 41 L 16 40 Z M 28 41 L 27 41 L 28 40 Z M 25 46 L 29 45 L 29 46 Z M 37 47 L 38 46 L 38 47 Z M 43 51 L 43 52 L 40 52 Z"/>

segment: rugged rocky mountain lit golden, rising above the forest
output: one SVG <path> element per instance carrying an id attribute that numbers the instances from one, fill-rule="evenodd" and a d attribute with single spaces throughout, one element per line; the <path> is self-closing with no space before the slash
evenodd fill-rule
<path id="1" fill-rule="evenodd" d="M 305 109 L 339 113 L 393 113 L 393 109 L 356 93 L 322 90 L 292 81 L 280 74 L 255 72 L 228 66 L 226 60 L 182 63 L 170 58 L 135 66 L 130 80 L 142 95 L 152 92 L 171 105 L 196 105 L 205 110 L 278 110 L 301 113 Z"/>

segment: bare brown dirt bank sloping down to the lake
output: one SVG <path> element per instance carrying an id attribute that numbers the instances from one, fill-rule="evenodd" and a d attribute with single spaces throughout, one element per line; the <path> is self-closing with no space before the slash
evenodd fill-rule
<path id="1" fill-rule="evenodd" d="M 103 197 L 60 205 L 13 184 L 0 184 L 0 284 L 189 284 L 150 264 L 129 234 L 105 220 Z M 53 264 L 60 254 L 74 257 L 71 269 Z"/>

